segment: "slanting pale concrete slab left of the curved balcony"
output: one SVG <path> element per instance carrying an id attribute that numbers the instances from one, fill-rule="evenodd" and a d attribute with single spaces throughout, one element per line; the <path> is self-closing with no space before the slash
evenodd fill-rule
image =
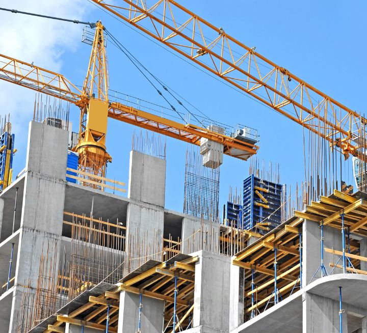
<path id="1" fill-rule="evenodd" d="M 301 333 L 302 290 L 235 328 L 231 333 Z"/>

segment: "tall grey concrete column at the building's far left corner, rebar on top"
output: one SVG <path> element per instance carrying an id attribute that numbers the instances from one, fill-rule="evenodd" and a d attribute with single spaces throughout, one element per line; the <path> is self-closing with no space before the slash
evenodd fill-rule
<path id="1" fill-rule="evenodd" d="M 23 285 L 37 287 L 42 252 L 58 262 L 65 199 L 68 132 L 30 123 L 15 291 L 9 332 L 15 331 Z M 57 274 L 57 272 L 55 272 Z"/>

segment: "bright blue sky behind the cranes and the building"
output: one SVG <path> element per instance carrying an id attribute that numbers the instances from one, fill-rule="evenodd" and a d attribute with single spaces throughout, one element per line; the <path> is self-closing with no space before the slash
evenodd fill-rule
<path id="1" fill-rule="evenodd" d="M 64 6 L 68 6 L 65 2 Z M 87 0 L 71 2 L 76 12 L 65 13 L 72 19 L 88 21 L 102 20 L 107 29 L 134 54 L 154 75 L 169 87 L 195 105 L 214 120 L 235 125 L 245 124 L 256 128 L 260 135 L 258 158 L 280 164 L 282 183 L 301 182 L 304 175 L 302 127 L 221 84 L 213 77 L 173 56 L 152 41 L 101 12 Z M 367 74 L 363 66 L 366 46 L 363 42 L 366 31 L 364 1 L 180 1 L 180 4 L 205 18 L 216 26 L 222 26 L 226 33 L 271 61 L 285 67 L 319 90 L 325 92 L 348 107 L 364 112 Z M 22 1 L 13 7 L 22 10 Z M 85 6 L 85 8 L 84 8 Z M 42 7 L 33 8 L 42 12 Z M 52 8 L 48 9 L 48 14 Z M 80 13 L 81 17 L 75 17 Z M 58 15 L 58 12 L 54 13 Z M 0 13 L 0 18 L 5 15 Z M 12 16 L 19 20 L 19 16 Z M 41 22 L 41 18 L 34 22 Z M 44 24 L 44 23 L 40 23 Z M 78 42 L 83 26 L 71 23 L 57 23 L 62 28 L 62 37 L 70 38 L 75 45 L 58 45 L 58 70 L 74 84 L 82 85 L 90 54 L 90 46 Z M 70 26 L 72 25 L 72 29 Z M 21 25 L 19 25 L 21 26 Z M 17 32 L 22 34 L 21 31 Z M 70 34 L 70 36 L 68 36 Z M 34 36 L 45 39 L 47 36 Z M 52 38 L 55 38 L 53 36 Z M 0 45 L 0 52 L 2 46 Z M 12 56 L 12 54 L 9 54 Z M 32 62 L 27 51 L 22 60 Z M 123 53 L 111 43 L 108 44 L 110 88 L 128 95 L 165 105 L 165 101 L 149 85 L 146 79 L 126 59 Z M 42 63 L 37 63 L 46 67 Z M 53 68 L 50 68 L 53 69 Z M 2 85 L 2 89 L 6 86 Z M 22 89 L 16 90 L 22 94 Z M 27 122 L 33 116 L 34 94 L 27 97 L 29 112 L 22 117 Z M 0 101 L 2 114 L 7 105 Z M 25 106 L 24 106 L 25 107 Z M 28 107 L 28 106 L 27 106 Z M 74 131 L 77 131 L 78 109 L 70 108 Z M 27 122 L 24 122 L 26 124 Z M 128 181 L 128 158 L 132 134 L 138 128 L 109 120 L 107 148 L 113 157 L 108 166 L 108 177 Z M 16 127 L 15 173 L 24 166 L 27 135 L 24 126 Z M 187 144 L 167 138 L 167 188 L 166 207 L 182 211 L 183 180 L 185 177 L 185 155 Z M 241 186 L 248 175 L 248 162 L 224 157 L 221 166 L 220 205 L 228 196 L 229 186 Z"/>

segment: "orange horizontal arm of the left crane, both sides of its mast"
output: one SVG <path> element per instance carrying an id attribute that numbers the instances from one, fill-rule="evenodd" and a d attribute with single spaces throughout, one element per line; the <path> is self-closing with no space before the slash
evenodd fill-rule
<path id="1" fill-rule="evenodd" d="M 89 97 L 63 75 L 3 54 L 0 54 L 0 79 L 61 98 L 80 107 L 84 107 L 89 101 Z M 258 149 L 256 145 L 231 136 L 192 124 L 181 124 L 117 102 L 109 103 L 108 116 L 195 145 L 200 145 L 201 138 L 207 138 L 222 144 L 226 155 L 244 160 L 256 154 Z"/>

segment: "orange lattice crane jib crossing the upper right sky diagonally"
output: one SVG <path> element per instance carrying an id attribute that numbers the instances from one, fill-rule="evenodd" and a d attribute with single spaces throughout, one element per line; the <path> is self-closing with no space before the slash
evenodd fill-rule
<path id="1" fill-rule="evenodd" d="M 358 156 L 365 119 L 173 0 L 92 0 L 280 114 Z M 148 3 L 150 3 L 148 5 Z"/>

